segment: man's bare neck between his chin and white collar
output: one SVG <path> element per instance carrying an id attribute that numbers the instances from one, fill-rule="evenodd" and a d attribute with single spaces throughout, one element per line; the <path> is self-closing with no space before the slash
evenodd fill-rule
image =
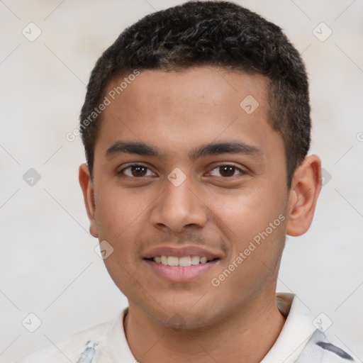
<path id="1" fill-rule="evenodd" d="M 128 345 L 140 363 L 188 362 L 191 357 L 196 363 L 258 363 L 274 345 L 284 323 L 274 296 L 259 296 L 258 301 L 250 301 L 205 328 L 169 328 L 132 303 L 124 322 Z"/>

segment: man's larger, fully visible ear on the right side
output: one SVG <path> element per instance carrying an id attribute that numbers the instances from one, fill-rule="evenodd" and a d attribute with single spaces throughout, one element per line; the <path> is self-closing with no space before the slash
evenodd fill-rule
<path id="1" fill-rule="evenodd" d="M 309 155 L 296 168 L 292 180 L 286 227 L 288 235 L 303 235 L 309 229 L 320 189 L 321 161 L 317 155 Z"/>

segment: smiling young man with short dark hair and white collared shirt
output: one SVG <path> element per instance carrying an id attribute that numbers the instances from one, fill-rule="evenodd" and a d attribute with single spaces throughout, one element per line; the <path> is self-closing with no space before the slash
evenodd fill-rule
<path id="1" fill-rule="evenodd" d="M 278 26 L 189 2 L 127 28 L 91 73 L 79 167 L 128 308 L 21 362 L 348 362 L 276 294 L 321 187 L 305 68 Z"/>

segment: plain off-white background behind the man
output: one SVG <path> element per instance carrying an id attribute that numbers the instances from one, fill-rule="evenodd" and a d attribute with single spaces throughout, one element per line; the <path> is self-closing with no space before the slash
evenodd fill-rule
<path id="1" fill-rule="evenodd" d="M 127 304 L 88 232 L 77 180 L 81 140 L 65 135 L 77 127 L 101 52 L 126 26 L 174 4 L 181 1 L 0 1 L 1 362 L 116 318 Z M 311 80 L 311 153 L 325 169 L 311 229 L 287 241 L 279 291 L 297 294 L 312 322 L 325 313 L 330 337 L 362 362 L 363 3 L 238 4 L 281 26 L 302 52 Z M 33 42 L 22 33 L 36 35 L 30 22 L 41 30 Z M 33 186 L 23 179 L 30 168 L 40 175 Z M 42 322 L 34 333 L 22 325 L 29 313 Z"/>

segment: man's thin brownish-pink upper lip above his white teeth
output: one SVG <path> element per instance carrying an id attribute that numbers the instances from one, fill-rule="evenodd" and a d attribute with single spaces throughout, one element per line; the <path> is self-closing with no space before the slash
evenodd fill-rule
<path id="1" fill-rule="evenodd" d="M 220 254 L 208 250 L 206 248 L 197 246 L 160 246 L 153 247 L 147 250 L 143 254 L 143 258 L 150 259 L 155 256 L 174 256 L 174 257 L 185 257 L 185 256 L 200 256 L 207 257 L 208 259 L 220 258 Z"/>

